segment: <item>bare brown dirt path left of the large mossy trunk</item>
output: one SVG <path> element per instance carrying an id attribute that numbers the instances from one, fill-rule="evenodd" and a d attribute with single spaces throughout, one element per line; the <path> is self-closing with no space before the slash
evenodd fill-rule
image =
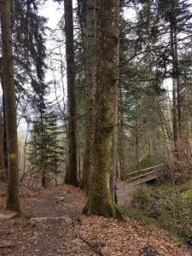
<path id="1" fill-rule="evenodd" d="M 0 255 L 93 255 L 74 229 L 79 224 L 84 200 L 80 190 L 70 186 L 49 190 L 22 188 L 24 214 L 0 219 L 0 246 L 8 246 L 0 247 Z"/>

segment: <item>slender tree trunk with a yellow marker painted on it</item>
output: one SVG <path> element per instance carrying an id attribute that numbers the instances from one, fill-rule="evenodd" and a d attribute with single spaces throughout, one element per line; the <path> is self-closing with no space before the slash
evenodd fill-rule
<path id="1" fill-rule="evenodd" d="M 12 53 L 10 2 L 3 0 L 1 6 L 3 85 L 5 97 L 7 145 L 8 145 L 8 197 L 6 209 L 20 212 L 18 142 L 15 108 L 15 83 Z"/>

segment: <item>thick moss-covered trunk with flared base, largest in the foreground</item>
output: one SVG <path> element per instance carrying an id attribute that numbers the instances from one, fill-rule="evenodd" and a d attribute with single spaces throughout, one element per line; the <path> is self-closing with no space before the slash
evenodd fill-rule
<path id="1" fill-rule="evenodd" d="M 90 194 L 84 207 L 88 215 L 123 219 L 109 189 L 112 167 L 113 90 L 116 79 L 115 0 L 99 1 L 97 16 L 96 127 Z"/>

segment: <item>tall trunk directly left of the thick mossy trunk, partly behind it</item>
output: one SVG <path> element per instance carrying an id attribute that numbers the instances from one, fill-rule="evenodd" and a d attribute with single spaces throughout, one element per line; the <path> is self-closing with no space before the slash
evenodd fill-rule
<path id="1" fill-rule="evenodd" d="M 92 144 L 96 117 L 96 0 L 87 1 L 85 44 L 85 127 L 84 166 L 81 188 L 88 195 L 92 167 Z"/>

